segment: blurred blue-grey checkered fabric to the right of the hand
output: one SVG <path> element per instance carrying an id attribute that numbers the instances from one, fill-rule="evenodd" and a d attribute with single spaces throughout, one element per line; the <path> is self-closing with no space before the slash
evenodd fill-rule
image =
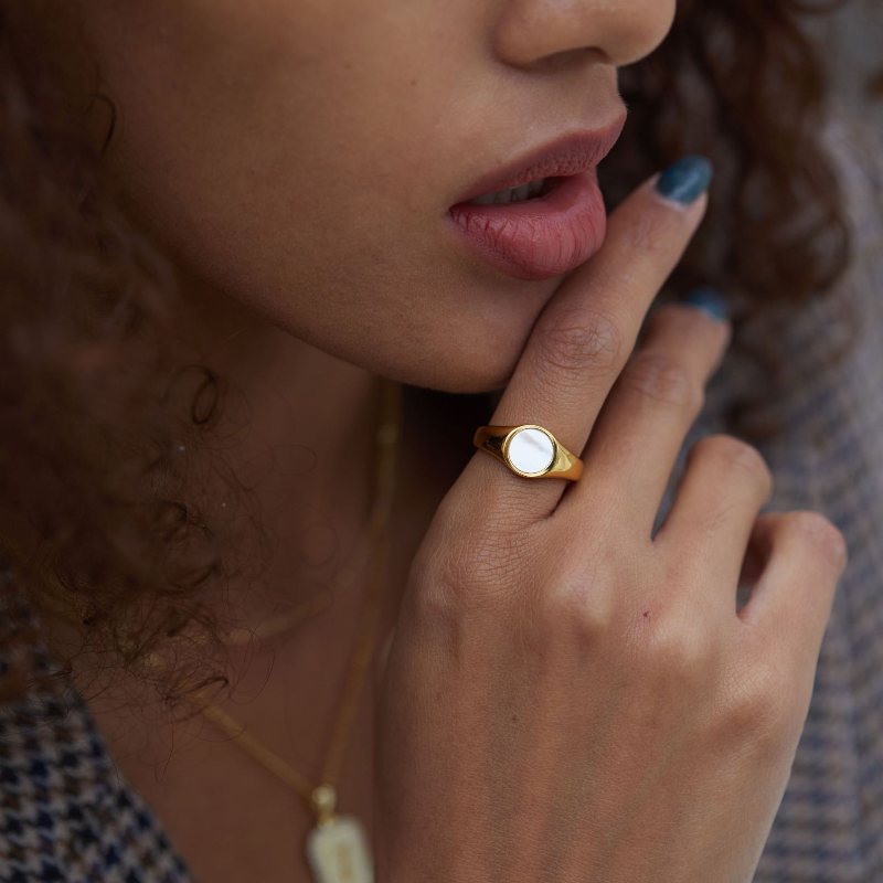
<path id="1" fill-rule="evenodd" d="M 883 883 L 883 138 L 858 117 L 837 120 L 828 135 L 854 227 L 850 275 L 826 300 L 783 312 L 775 332 L 769 320 L 753 329 L 758 340 L 779 340 L 786 372 L 775 387 L 756 362 L 727 354 L 659 518 L 689 447 L 725 432 L 727 403 L 754 387 L 766 396 L 759 418 L 784 425 L 758 445 L 775 478 L 766 508 L 819 510 L 849 543 L 806 727 L 755 883 Z M 850 333 L 844 307 L 858 337 L 832 368 Z"/>

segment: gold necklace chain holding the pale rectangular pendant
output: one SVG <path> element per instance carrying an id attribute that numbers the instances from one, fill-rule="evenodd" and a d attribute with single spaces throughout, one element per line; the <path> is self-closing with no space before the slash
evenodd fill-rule
<path id="1" fill-rule="evenodd" d="M 199 711 L 231 741 L 249 754 L 265 769 L 305 798 L 315 813 L 317 825 L 329 826 L 336 820 L 336 786 L 355 722 L 359 699 L 374 655 L 376 628 L 380 620 L 380 602 L 386 583 L 389 557 L 387 525 L 396 485 L 396 466 L 402 422 L 402 386 L 382 379 L 380 422 L 375 434 L 374 499 L 368 524 L 357 544 L 357 557 L 370 551 L 368 591 L 359 616 L 357 637 L 350 655 L 347 681 L 326 754 L 321 780 L 311 783 L 290 764 L 259 743 L 223 709 L 209 700 L 198 701 Z M 348 570 L 352 575 L 352 566 Z M 299 608 L 298 608 L 299 609 Z M 337 847 L 340 852 L 340 845 Z M 317 869 L 313 868 L 317 872 Z M 318 874 L 318 872 L 317 872 Z M 326 879 L 326 877 L 322 877 Z M 328 877 L 330 879 L 330 877 Z"/>

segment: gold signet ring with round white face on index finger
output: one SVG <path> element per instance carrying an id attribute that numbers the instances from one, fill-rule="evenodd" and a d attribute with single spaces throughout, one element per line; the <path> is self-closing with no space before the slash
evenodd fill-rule
<path id="1" fill-rule="evenodd" d="M 522 478 L 566 478 L 583 475 L 583 461 L 549 429 L 533 423 L 521 426 L 479 426 L 472 443 L 504 462 Z"/>

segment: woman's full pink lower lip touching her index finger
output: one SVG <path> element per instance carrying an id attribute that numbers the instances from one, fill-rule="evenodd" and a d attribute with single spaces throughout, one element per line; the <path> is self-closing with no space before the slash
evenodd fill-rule
<path id="1" fill-rule="evenodd" d="M 460 202 L 448 214 L 472 254 L 530 281 L 551 279 L 588 260 L 607 226 L 595 169 L 558 178 L 540 199 L 502 205 Z"/>

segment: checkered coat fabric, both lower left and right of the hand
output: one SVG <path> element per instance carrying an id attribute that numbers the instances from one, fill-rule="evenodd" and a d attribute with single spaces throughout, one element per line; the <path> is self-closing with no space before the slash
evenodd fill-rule
<path id="1" fill-rule="evenodd" d="M 769 416 L 784 423 L 760 445 L 776 479 L 769 508 L 820 510 L 849 541 L 806 727 L 755 883 L 883 881 L 883 139 L 859 123 L 837 124 L 830 136 L 852 201 L 850 277 L 777 328 L 787 371 L 775 389 L 756 363 L 727 354 L 660 510 L 661 520 L 688 448 L 724 432 L 727 404 L 759 385 Z M 844 304 L 860 337 L 832 368 L 848 332 Z M 770 332 L 758 323 L 756 333 Z M 64 711 L 36 700 L 0 712 L 0 794 L 2 883 L 192 883 L 75 694 Z"/>

